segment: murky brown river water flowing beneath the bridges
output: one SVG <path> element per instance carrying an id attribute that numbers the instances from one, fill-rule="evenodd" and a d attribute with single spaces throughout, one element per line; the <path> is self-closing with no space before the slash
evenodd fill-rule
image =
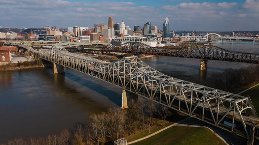
<path id="1" fill-rule="evenodd" d="M 259 53 L 259 45 L 216 44 L 231 51 Z M 206 81 L 213 72 L 241 68 L 247 63 L 208 61 L 200 73 L 199 59 L 155 56 L 143 59 L 158 71 L 191 82 Z M 0 143 L 46 137 L 74 130 L 90 114 L 121 105 L 121 88 L 75 70 L 53 74 L 48 68 L 0 71 Z"/>

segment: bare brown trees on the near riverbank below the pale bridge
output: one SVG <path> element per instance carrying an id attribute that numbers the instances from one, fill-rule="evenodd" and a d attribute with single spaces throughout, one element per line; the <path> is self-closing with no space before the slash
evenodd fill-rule
<path id="1" fill-rule="evenodd" d="M 85 124 L 77 124 L 74 132 L 68 129 L 47 138 L 31 138 L 30 141 L 14 139 L 1 145 L 104 145 L 114 140 L 130 136 L 136 131 L 144 131 L 150 125 L 163 126 L 172 110 L 154 103 L 151 99 L 139 97 L 130 100 L 128 109 L 109 108 L 107 112 L 93 114 Z M 174 115 L 178 116 L 177 113 Z"/>

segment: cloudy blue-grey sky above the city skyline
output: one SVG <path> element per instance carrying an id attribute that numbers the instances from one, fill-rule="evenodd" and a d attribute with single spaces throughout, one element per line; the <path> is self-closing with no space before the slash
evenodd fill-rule
<path id="1" fill-rule="evenodd" d="M 259 0 L 0 0 L 4 28 L 94 27 L 109 17 L 134 25 L 170 30 L 259 30 Z"/>

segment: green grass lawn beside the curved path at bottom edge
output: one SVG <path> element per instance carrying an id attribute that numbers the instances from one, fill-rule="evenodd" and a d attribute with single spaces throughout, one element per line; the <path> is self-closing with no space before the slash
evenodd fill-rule
<path id="1" fill-rule="evenodd" d="M 225 145 L 225 144 L 208 128 L 173 126 L 146 140 L 143 140 L 131 145 Z"/>

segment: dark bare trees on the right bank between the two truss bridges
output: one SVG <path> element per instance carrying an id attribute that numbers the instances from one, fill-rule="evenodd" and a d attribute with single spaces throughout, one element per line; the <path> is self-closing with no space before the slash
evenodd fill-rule
<path id="1" fill-rule="evenodd" d="M 222 73 L 213 73 L 206 86 L 225 91 L 239 91 L 241 87 L 253 85 L 259 81 L 259 65 L 240 69 L 228 68 Z"/>

